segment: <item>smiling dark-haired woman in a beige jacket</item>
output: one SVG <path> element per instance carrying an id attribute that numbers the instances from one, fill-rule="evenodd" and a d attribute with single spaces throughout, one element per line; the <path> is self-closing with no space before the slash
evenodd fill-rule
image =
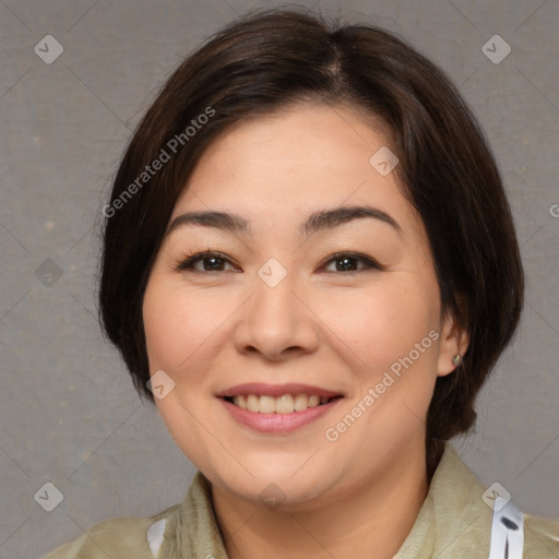
<path id="1" fill-rule="evenodd" d="M 559 524 L 447 442 L 523 272 L 484 135 L 413 48 L 235 22 L 169 79 L 103 212 L 103 325 L 200 472 L 49 557 L 558 557 Z"/>

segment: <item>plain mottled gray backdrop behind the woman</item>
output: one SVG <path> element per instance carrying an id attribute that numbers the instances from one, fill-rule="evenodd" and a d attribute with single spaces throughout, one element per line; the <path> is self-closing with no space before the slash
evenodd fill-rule
<path id="1" fill-rule="evenodd" d="M 476 432 L 456 444 L 486 485 L 501 483 L 525 512 L 559 518 L 559 2 L 305 4 L 401 34 L 448 72 L 486 130 L 527 301 L 480 395 Z M 193 467 L 99 333 L 96 224 L 163 80 L 210 33 L 272 5 L 0 0 L 1 558 L 38 557 L 102 519 L 183 498 Z M 51 64 L 34 52 L 47 34 L 64 49 Z M 496 34 L 512 48 L 498 64 L 481 51 Z M 47 481 L 63 493 L 52 512 L 34 499 Z"/>

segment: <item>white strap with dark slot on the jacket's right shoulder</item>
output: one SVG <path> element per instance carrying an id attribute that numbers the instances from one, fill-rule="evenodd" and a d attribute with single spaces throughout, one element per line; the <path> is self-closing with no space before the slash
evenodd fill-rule
<path id="1" fill-rule="evenodd" d="M 489 559 L 522 559 L 524 514 L 512 501 L 497 497 L 493 503 Z"/>

